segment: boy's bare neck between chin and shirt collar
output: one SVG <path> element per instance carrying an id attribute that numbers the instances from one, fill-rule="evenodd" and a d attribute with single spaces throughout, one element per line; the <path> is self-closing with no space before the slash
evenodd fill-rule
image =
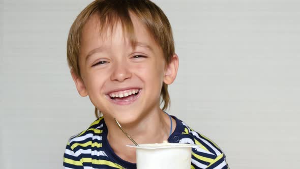
<path id="1" fill-rule="evenodd" d="M 135 163 L 135 149 L 126 145 L 133 145 L 131 140 L 117 127 L 113 119 L 105 119 L 108 134 L 107 140 L 113 151 L 122 159 Z M 173 123 L 174 124 L 174 123 Z M 162 143 L 167 140 L 170 132 L 170 119 L 159 107 L 148 112 L 146 117 L 137 124 L 122 128 L 135 140 L 137 144 Z M 175 125 L 172 127 L 172 131 Z"/>

